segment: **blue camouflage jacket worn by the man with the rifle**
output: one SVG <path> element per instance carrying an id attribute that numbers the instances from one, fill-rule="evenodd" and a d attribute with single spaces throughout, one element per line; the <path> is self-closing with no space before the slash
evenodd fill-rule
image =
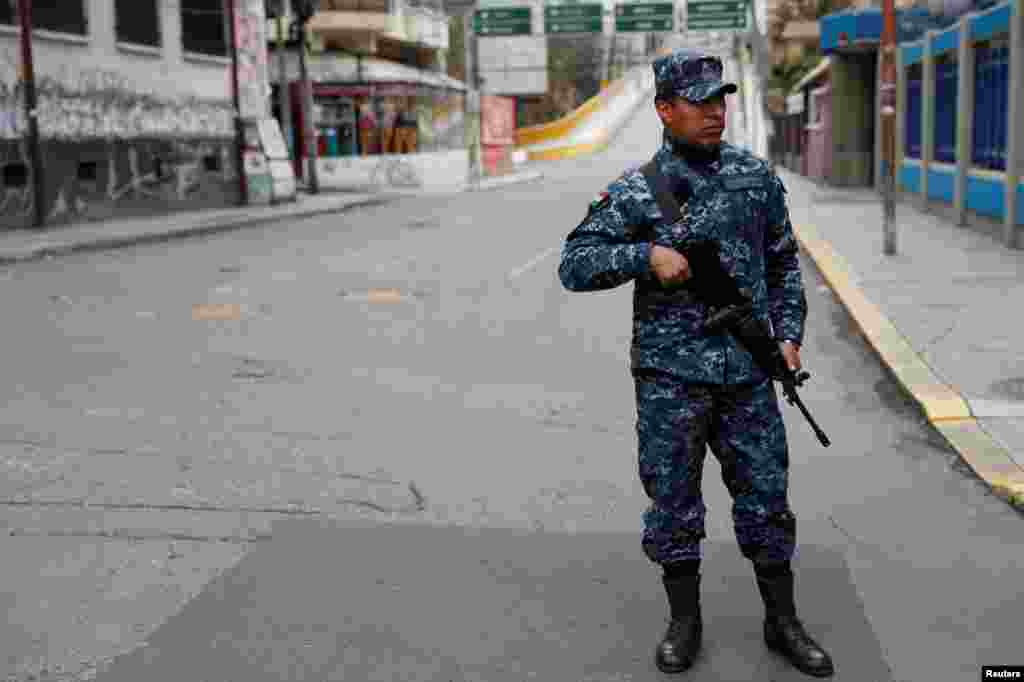
<path id="1" fill-rule="evenodd" d="M 807 302 L 785 188 L 764 161 L 723 143 L 718 159 L 695 165 L 666 141 L 655 156 L 678 197 L 688 183 L 683 219 L 662 219 L 640 170 L 630 170 L 591 204 L 565 240 L 558 274 L 570 291 L 611 289 L 634 281 L 631 366 L 681 381 L 742 384 L 765 373 L 728 334 L 701 331 L 707 307 L 687 287 L 665 289 L 650 267 L 652 245 L 686 252 L 714 239 L 726 271 L 750 290 L 757 314 L 779 340 L 803 342 Z"/>

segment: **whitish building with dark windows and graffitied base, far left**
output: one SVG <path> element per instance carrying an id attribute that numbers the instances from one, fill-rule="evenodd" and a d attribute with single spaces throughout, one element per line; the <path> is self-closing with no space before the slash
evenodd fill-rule
<path id="1" fill-rule="evenodd" d="M 31 224 L 20 31 L 0 3 L 0 228 Z M 34 2 L 47 225 L 238 201 L 221 0 Z"/>

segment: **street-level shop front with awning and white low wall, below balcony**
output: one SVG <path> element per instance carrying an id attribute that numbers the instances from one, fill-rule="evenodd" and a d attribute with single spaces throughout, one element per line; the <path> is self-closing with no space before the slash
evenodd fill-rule
<path id="1" fill-rule="evenodd" d="M 359 82 L 313 83 L 316 173 L 327 189 L 454 189 L 469 172 L 465 86 L 444 75 L 362 59 Z M 300 85 L 292 84 L 295 136 L 305 166 Z"/>

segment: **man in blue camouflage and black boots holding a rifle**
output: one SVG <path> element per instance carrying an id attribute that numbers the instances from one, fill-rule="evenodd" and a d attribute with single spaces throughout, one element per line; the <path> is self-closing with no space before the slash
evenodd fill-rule
<path id="1" fill-rule="evenodd" d="M 559 276 L 570 291 L 635 283 L 631 367 L 640 479 L 651 501 L 643 549 L 663 568 L 671 612 L 655 662 L 682 672 L 700 648 L 700 479 L 710 446 L 764 600 L 767 645 L 804 673 L 828 677 L 831 659 L 794 604 L 796 518 L 774 384 L 731 335 L 701 330 L 709 306 L 695 294 L 699 268 L 691 276 L 684 255 L 688 243 L 716 243 L 722 267 L 799 369 L 807 303 L 785 189 L 766 162 L 722 142 L 725 95 L 736 86 L 722 81 L 720 59 L 678 50 L 653 69 L 665 141 L 591 204 L 566 238 Z M 682 205 L 680 220 L 659 209 L 666 195 Z"/>

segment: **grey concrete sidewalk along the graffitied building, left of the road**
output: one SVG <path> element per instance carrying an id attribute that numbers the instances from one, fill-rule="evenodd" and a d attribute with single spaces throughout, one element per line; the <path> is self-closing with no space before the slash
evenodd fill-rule
<path id="1" fill-rule="evenodd" d="M 536 169 L 520 169 L 506 175 L 483 178 L 466 190 L 482 191 L 516 182 L 537 180 Z M 205 211 L 180 211 L 142 218 L 123 218 L 78 223 L 44 229 L 0 231 L 0 265 L 38 260 L 78 251 L 96 251 L 137 244 L 165 242 L 185 237 L 261 225 L 290 218 L 338 213 L 357 206 L 373 206 L 402 197 L 436 196 L 436 193 L 382 191 L 351 194 L 325 191 L 299 194 L 298 201 L 275 206 L 247 206 Z"/>

